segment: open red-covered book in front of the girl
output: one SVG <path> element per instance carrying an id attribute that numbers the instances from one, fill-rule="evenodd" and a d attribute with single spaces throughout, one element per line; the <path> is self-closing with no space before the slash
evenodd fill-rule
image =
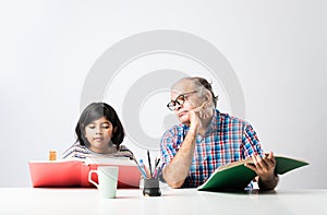
<path id="1" fill-rule="evenodd" d="M 118 187 L 140 187 L 141 172 L 130 158 L 87 158 L 85 160 L 31 160 L 32 184 L 38 187 L 94 187 L 88 182 L 88 171 L 98 166 L 118 166 Z M 98 181 L 97 175 L 92 179 Z"/>

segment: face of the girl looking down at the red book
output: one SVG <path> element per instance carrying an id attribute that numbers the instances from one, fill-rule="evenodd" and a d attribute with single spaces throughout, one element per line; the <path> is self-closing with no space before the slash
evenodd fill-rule
<path id="1" fill-rule="evenodd" d="M 85 127 L 85 138 L 89 142 L 89 150 L 95 153 L 109 153 L 111 138 L 114 133 L 112 123 L 105 117 L 101 117 Z"/>

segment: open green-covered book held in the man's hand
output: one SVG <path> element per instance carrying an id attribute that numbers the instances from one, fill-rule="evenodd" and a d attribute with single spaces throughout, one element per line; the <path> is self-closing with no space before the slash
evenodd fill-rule
<path id="1" fill-rule="evenodd" d="M 282 175 L 292 169 L 308 165 L 308 163 L 286 156 L 275 156 L 275 172 Z M 243 190 L 256 176 L 256 174 L 244 166 L 253 164 L 252 158 L 242 159 L 221 166 L 216 169 L 208 180 L 197 190 L 203 191 L 223 191 L 223 190 Z"/>

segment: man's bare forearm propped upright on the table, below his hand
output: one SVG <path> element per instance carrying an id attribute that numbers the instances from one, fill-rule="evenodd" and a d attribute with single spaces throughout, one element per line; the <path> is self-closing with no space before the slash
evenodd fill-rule
<path id="1" fill-rule="evenodd" d="M 180 188 L 189 175 L 195 148 L 196 132 L 190 130 L 182 146 L 164 169 L 164 178 L 172 188 Z"/>

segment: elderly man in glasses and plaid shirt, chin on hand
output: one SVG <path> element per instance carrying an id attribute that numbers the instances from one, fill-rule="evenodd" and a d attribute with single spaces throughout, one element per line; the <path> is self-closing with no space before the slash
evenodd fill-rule
<path id="1" fill-rule="evenodd" d="M 216 109 L 210 83 L 184 77 L 171 87 L 172 110 L 181 124 L 165 132 L 160 142 L 162 176 L 172 188 L 196 188 L 219 166 L 252 157 L 246 165 L 257 175 L 258 187 L 278 183 L 272 152 L 265 155 L 250 123 Z"/>

